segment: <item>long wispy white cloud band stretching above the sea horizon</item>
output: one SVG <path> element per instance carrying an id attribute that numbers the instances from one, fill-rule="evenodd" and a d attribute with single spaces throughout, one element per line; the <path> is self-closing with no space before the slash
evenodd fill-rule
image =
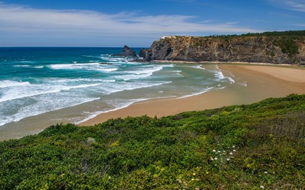
<path id="1" fill-rule="evenodd" d="M 163 34 L 249 33 L 252 28 L 236 23 L 195 23 L 189 15 L 114 15 L 90 10 L 51 10 L 0 2 L 0 34 L 46 37 L 147 37 Z M 1 45 L 1 44 L 0 44 Z"/>

